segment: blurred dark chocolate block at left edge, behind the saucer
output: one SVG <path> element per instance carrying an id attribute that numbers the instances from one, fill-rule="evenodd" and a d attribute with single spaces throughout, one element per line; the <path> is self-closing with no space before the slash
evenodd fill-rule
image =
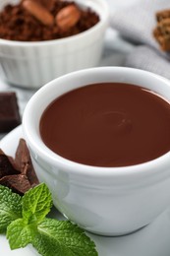
<path id="1" fill-rule="evenodd" d="M 6 133 L 21 124 L 17 96 L 13 92 L 0 93 L 0 133 Z"/>

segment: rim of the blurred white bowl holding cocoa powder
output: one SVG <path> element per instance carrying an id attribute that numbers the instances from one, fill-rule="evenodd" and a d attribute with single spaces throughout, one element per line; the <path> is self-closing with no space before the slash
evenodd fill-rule
<path id="1" fill-rule="evenodd" d="M 88 0 L 84 3 L 85 6 L 91 8 L 94 12 L 96 12 L 100 20 L 99 22 L 91 27 L 90 29 L 86 30 L 85 32 L 80 32 L 75 35 L 67 36 L 67 37 L 61 37 L 57 39 L 52 39 L 52 40 L 43 40 L 43 41 L 18 41 L 18 40 L 8 40 L 8 39 L 3 39 L 0 38 L 0 45 L 1 44 L 6 44 L 9 46 L 23 46 L 23 47 L 39 47 L 39 46 L 44 46 L 44 45 L 57 45 L 57 44 L 65 44 L 65 43 L 72 43 L 74 40 L 78 39 L 83 39 L 85 40 L 85 36 L 90 36 L 91 33 L 100 30 L 103 25 L 107 25 L 108 20 L 109 20 L 109 8 L 108 4 L 106 3 L 105 0 L 94 0 L 96 4 L 102 5 L 102 12 L 98 13 L 95 9 L 93 9 L 93 6 L 91 5 L 91 0 Z M 77 1 L 79 4 L 79 0 Z M 87 3 L 87 4 L 86 4 Z"/>

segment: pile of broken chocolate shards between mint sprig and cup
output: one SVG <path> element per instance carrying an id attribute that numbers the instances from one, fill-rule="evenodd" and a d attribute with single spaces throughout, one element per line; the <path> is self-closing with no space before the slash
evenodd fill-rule
<path id="1" fill-rule="evenodd" d="M 28 147 L 24 139 L 20 139 L 16 157 L 13 159 L 0 150 L 0 184 L 8 186 L 20 195 L 38 184 Z"/>

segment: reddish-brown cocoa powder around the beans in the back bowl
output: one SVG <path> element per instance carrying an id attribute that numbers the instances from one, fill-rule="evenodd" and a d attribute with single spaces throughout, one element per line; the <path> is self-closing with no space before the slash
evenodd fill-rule
<path id="1" fill-rule="evenodd" d="M 35 0 L 34 0 L 35 1 Z M 25 0 L 18 5 L 8 4 L 0 12 L 0 38 L 19 41 L 42 41 L 63 38 L 85 32 L 98 23 L 99 17 L 92 10 L 84 9 L 75 2 L 60 0 L 36 0 L 35 2 L 54 17 L 65 7 L 75 6 L 80 12 L 80 18 L 73 23 L 73 26 L 63 28 L 56 22 L 52 25 L 45 25 L 33 16 L 25 7 Z M 46 4 L 48 2 L 48 5 Z M 71 20 L 71 19 L 70 19 Z"/>

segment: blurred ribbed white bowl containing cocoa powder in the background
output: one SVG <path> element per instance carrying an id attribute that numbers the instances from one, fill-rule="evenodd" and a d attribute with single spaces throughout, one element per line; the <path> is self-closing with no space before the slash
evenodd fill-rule
<path id="1" fill-rule="evenodd" d="M 1 0 L 0 9 L 16 0 Z M 26 88 L 39 88 L 72 71 L 94 67 L 102 53 L 104 32 L 108 25 L 105 0 L 76 0 L 94 10 L 100 21 L 86 32 L 66 38 L 39 42 L 0 39 L 0 77 Z"/>

